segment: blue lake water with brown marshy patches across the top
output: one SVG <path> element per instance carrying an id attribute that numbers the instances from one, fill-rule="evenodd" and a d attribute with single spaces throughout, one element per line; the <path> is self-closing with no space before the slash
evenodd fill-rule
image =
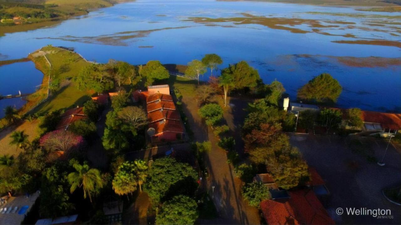
<path id="1" fill-rule="evenodd" d="M 96 10 L 56 26 L 6 34 L 0 38 L 0 56 L 2 60 L 26 57 L 47 44 L 74 47 L 88 60 L 107 62 L 113 58 L 132 64 L 148 60 L 186 64 L 204 54 L 216 53 L 224 60 L 219 68 L 246 60 L 259 70 L 265 83 L 275 79 L 282 82 L 292 99 L 300 86 L 328 72 L 344 88 L 338 106 L 401 111 L 401 66 L 347 66 L 336 58 L 400 58 L 401 48 L 332 42 L 399 41 L 400 15 L 267 2 L 138 0 Z M 253 22 L 258 20 L 256 16 L 267 19 L 265 23 Z M 204 22 L 193 17 L 225 20 Z M 298 22 L 294 24 L 292 20 Z M 27 68 L 30 69 L 35 70 Z M 30 74 L 36 76 L 34 72 Z M 41 76 L 32 86 L 40 84 Z M 13 82 L 12 78 L 2 80 L 0 88 L 8 88 Z M 17 83 L 14 89 L 25 87 Z M 0 104 L 4 105 L 1 101 Z"/>

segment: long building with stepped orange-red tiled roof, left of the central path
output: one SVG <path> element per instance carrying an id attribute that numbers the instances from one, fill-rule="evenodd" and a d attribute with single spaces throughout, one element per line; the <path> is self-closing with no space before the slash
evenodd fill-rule
<path id="1" fill-rule="evenodd" d="M 161 88 L 158 90 L 157 87 Z M 152 87 L 152 88 L 151 88 Z M 184 127 L 180 114 L 176 110 L 168 85 L 150 86 L 152 93 L 146 97 L 146 112 L 148 112 L 148 135 L 152 143 L 159 141 L 176 141 L 182 139 Z M 149 89 L 148 89 L 149 90 Z M 134 92 L 135 93 L 135 92 Z M 138 97 L 139 96 L 139 97 Z M 133 98 L 143 98 L 142 92 L 133 94 Z"/>

